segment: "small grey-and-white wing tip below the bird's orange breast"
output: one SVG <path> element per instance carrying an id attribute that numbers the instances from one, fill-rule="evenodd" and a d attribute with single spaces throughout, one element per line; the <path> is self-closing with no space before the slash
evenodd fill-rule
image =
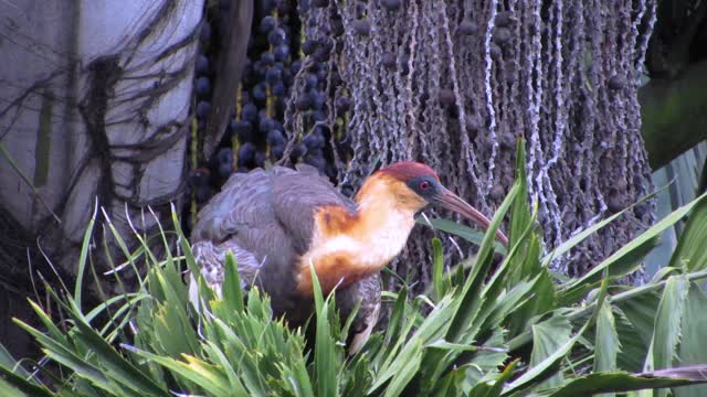
<path id="1" fill-rule="evenodd" d="M 357 302 L 361 302 L 356 316 L 351 321 L 347 344 L 349 354 L 358 352 L 368 341 L 378 323 L 380 313 L 380 273 L 359 280 L 336 292 L 336 305 L 341 322 L 346 322 Z"/>

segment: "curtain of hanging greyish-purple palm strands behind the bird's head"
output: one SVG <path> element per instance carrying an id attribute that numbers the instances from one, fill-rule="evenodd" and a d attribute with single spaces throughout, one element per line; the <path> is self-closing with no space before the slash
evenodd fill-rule
<path id="1" fill-rule="evenodd" d="M 330 96 L 352 97 L 345 127 L 355 154 L 338 162 L 341 183 L 360 185 L 378 157 L 422 160 L 492 214 L 513 183 L 515 140 L 523 136 L 547 249 L 652 189 L 633 82 L 655 20 L 653 1 L 410 0 L 398 10 L 382 1 L 330 1 L 300 9 L 300 18 L 307 37 L 337 49 L 326 67 L 342 82 Z M 334 36 L 338 19 L 345 32 Z M 388 67 L 391 57 L 395 65 Z M 313 64 L 307 57 L 300 74 Z M 333 130 L 335 119 L 330 111 Z M 302 120 L 289 106 L 289 130 L 300 131 Z M 653 207 L 637 206 L 552 268 L 587 271 L 650 224 Z M 430 281 L 432 235 L 418 228 L 392 264 L 420 288 Z M 445 242 L 446 256 L 458 259 Z"/>

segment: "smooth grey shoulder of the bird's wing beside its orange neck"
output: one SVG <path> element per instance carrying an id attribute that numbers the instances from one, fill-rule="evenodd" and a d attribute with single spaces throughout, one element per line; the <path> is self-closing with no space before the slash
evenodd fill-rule
<path id="1" fill-rule="evenodd" d="M 287 230 L 293 248 L 302 255 L 312 244 L 317 207 L 337 205 L 355 213 L 356 204 L 321 176 L 316 168 L 307 164 L 296 167 L 296 174 L 282 173 L 275 178 L 273 192 L 277 219 Z"/>

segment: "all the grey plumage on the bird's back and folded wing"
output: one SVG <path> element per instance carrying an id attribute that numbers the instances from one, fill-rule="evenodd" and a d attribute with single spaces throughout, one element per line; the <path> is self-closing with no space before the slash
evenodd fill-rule
<path id="1" fill-rule="evenodd" d="M 276 315 L 287 312 L 293 323 L 306 320 L 312 308 L 296 291 L 297 264 L 312 244 L 314 214 L 323 205 L 356 211 L 309 165 L 231 175 L 199 213 L 191 235 L 205 281 L 220 290 L 223 256 L 231 249 L 243 280 L 271 296 Z"/>

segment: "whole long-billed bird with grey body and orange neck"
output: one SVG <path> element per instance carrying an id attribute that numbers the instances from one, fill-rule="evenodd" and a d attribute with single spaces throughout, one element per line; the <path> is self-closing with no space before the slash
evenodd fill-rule
<path id="1" fill-rule="evenodd" d="M 273 314 L 293 328 L 314 312 L 314 269 L 325 296 L 336 289 L 341 319 L 360 302 L 347 340 L 352 354 L 378 321 L 381 269 L 404 248 L 416 214 L 430 204 L 460 213 L 484 229 L 490 225 L 421 162 L 381 168 L 363 181 L 354 200 L 307 164 L 255 169 L 231 175 L 201 208 L 191 247 L 201 276 L 218 294 L 231 251 L 242 287 L 266 292 Z M 496 237 L 507 245 L 503 232 Z M 193 275 L 189 290 L 196 303 Z"/>

